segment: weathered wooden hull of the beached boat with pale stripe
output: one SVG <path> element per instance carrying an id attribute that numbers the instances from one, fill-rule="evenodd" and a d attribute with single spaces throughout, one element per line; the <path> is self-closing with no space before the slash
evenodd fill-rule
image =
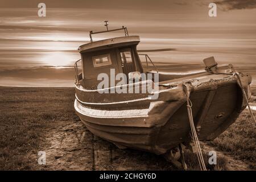
<path id="1" fill-rule="evenodd" d="M 192 83 L 190 99 L 199 140 L 213 140 L 236 121 L 246 107 L 234 76 L 207 74 L 165 81 L 163 85 L 170 89 L 161 90 L 158 100 L 154 101 L 143 95 L 134 100 L 123 95 L 109 102 L 108 96 L 113 97 L 109 94 L 105 95 L 105 102 L 86 102 L 97 98 L 97 92 L 87 93 L 76 86 L 75 110 L 89 131 L 118 147 L 164 154 L 177 144 L 191 140 L 182 86 L 186 80 Z M 250 77 L 243 76 L 242 83 L 249 97 Z M 87 98 L 92 94 L 94 96 Z"/>

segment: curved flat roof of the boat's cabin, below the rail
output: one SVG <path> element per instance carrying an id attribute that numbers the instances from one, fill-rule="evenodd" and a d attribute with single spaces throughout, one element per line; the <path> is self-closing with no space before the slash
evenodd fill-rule
<path id="1" fill-rule="evenodd" d="M 131 44 L 138 44 L 140 42 L 139 36 L 121 36 L 118 38 L 111 38 L 105 40 L 98 40 L 96 42 L 91 42 L 87 44 L 83 44 L 79 47 L 79 52 L 88 52 L 88 51 L 96 51 L 100 49 L 109 48 L 110 46 L 124 46 Z"/>

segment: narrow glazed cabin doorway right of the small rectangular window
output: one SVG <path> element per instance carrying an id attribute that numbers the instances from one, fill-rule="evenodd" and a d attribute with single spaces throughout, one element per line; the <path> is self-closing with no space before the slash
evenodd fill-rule
<path id="1" fill-rule="evenodd" d="M 131 51 L 131 48 L 119 49 L 119 53 L 121 57 L 123 73 L 125 73 L 125 75 L 128 78 L 128 74 L 130 72 L 136 71 L 135 65 L 134 65 L 133 53 Z"/>

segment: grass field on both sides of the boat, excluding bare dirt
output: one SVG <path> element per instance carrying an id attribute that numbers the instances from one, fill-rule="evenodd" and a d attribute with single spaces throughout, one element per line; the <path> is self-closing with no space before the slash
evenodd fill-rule
<path id="1" fill-rule="evenodd" d="M 44 133 L 53 124 L 80 120 L 73 109 L 74 99 L 73 88 L 0 87 L 0 169 L 40 169 L 35 166 L 36 156 L 31 157 L 28 154 L 36 154 L 44 140 Z M 228 152 L 234 158 L 250 162 L 251 168 L 255 169 L 255 138 L 255 125 L 248 112 L 244 111 L 240 118 L 210 145 Z M 159 169 L 172 169 L 158 156 L 129 150 L 125 152 L 125 155 L 142 158 L 142 163 L 145 160 L 148 163 L 160 161 L 162 166 Z M 125 156 L 118 160 L 122 164 L 127 162 Z M 198 169 L 195 155 L 186 154 L 186 162 L 189 169 Z M 141 169 L 135 162 L 129 163 L 131 168 Z M 218 158 L 216 167 L 208 168 L 226 169 L 226 163 L 225 157 L 221 157 Z"/>

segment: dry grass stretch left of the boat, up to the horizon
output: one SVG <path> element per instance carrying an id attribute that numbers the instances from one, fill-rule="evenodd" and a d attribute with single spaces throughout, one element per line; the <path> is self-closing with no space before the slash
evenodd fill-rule
<path id="1" fill-rule="evenodd" d="M 78 119 L 73 88 L 0 87 L 0 169 L 33 169 L 35 150 L 48 122 Z"/>

